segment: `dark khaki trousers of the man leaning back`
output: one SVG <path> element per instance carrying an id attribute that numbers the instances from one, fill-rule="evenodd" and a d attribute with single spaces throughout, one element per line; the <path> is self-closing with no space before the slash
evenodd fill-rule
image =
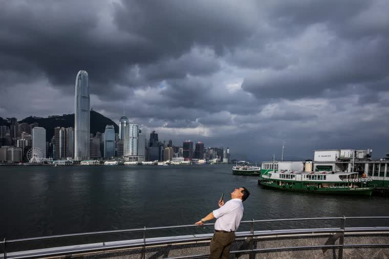
<path id="1" fill-rule="evenodd" d="M 229 258 L 230 245 L 234 240 L 234 232 L 215 232 L 209 246 L 209 259 Z"/>

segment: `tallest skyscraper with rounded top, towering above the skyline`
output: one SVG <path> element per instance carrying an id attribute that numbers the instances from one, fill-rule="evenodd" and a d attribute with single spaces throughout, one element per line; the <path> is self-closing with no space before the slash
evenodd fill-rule
<path id="1" fill-rule="evenodd" d="M 76 77 L 74 98 L 74 158 L 89 159 L 90 141 L 90 109 L 89 76 L 80 70 Z"/>

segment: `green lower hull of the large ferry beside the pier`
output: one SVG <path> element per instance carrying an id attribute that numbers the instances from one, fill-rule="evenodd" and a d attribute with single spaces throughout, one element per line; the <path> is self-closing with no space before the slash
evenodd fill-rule
<path id="1" fill-rule="evenodd" d="M 291 185 L 276 185 L 273 183 L 268 183 L 266 181 L 258 181 L 258 184 L 261 184 L 261 186 L 270 188 L 270 189 L 277 189 L 282 191 L 289 191 L 289 192 L 304 192 L 304 193 L 318 193 L 318 194 L 338 194 L 338 195 L 368 195 L 371 196 L 373 192 L 372 187 L 358 187 L 358 188 L 315 188 L 310 187 L 308 188 L 299 188 L 296 189 Z"/>

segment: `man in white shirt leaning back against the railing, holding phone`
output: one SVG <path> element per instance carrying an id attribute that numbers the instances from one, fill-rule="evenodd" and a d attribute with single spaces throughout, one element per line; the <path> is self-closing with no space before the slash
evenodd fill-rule
<path id="1" fill-rule="evenodd" d="M 239 227 L 243 217 L 243 201 L 250 193 L 245 187 L 236 188 L 231 193 L 231 200 L 224 204 L 219 201 L 219 208 L 213 210 L 205 218 L 196 222 L 196 225 L 203 225 L 205 221 L 217 219 L 215 232 L 209 247 L 209 259 L 229 258 L 230 245 L 235 240 L 235 231 Z"/>

